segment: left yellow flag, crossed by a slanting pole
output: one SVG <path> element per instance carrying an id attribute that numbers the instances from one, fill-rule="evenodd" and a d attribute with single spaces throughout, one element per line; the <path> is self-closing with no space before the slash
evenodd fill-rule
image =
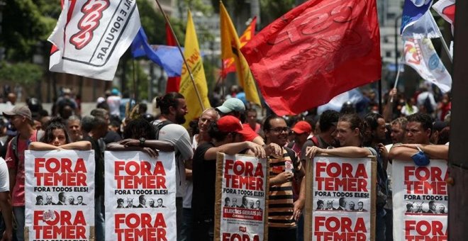
<path id="1" fill-rule="evenodd" d="M 187 26 L 185 32 L 185 50 L 184 57 L 189 64 L 191 73 L 194 75 L 196 88 L 199 90 L 201 102 L 204 108 L 210 108 L 210 101 L 208 101 L 208 87 L 206 86 L 205 70 L 203 62 L 201 61 L 199 40 L 196 38 L 194 21 L 191 19 L 191 12 L 187 16 Z M 186 66 L 182 65 L 182 76 L 180 80 L 179 93 L 185 97 L 187 109 L 189 113 L 185 116 L 185 128 L 189 127 L 191 120 L 198 118 L 203 112 L 200 106 L 200 101 L 196 96 L 194 84 L 191 82 L 189 71 Z"/>

